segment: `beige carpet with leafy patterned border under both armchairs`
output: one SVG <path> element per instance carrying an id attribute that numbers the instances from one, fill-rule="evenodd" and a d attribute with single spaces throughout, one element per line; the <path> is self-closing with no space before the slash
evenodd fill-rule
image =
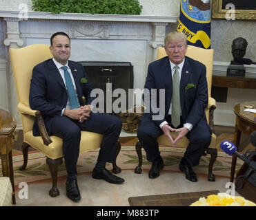
<path id="1" fill-rule="evenodd" d="M 60 195 L 51 198 L 48 195 L 48 190 L 52 186 L 52 181 L 48 166 L 46 165 L 46 157 L 35 151 L 35 149 L 29 148 L 27 169 L 20 171 L 19 167 L 23 164 L 23 156 L 21 155 L 23 136 L 15 135 L 14 137 L 14 148 L 17 148 L 17 151 L 12 151 L 14 155 L 16 206 L 129 206 L 128 197 L 205 190 L 226 192 L 228 190 L 226 184 L 229 181 L 231 157 L 220 150 L 213 167 L 213 173 L 216 175 L 215 182 L 207 180 L 209 155 L 201 157 L 199 166 L 194 168 L 198 177 L 197 183 L 188 181 L 185 178 L 184 173 L 178 170 L 179 160 L 184 153 L 184 148 L 161 148 L 161 155 L 166 166 L 164 170 L 161 170 L 161 174 L 157 179 L 149 179 L 148 170 L 150 169 L 150 164 L 146 161 L 145 153 L 142 173 L 135 174 L 133 171 L 135 166 L 137 166 L 137 154 L 134 147 L 137 138 L 122 137 L 121 144 L 126 144 L 126 146 L 121 147 L 121 152 L 117 157 L 117 165 L 122 169 L 118 176 L 125 179 L 124 184 L 117 186 L 115 184 L 108 184 L 101 179 L 92 179 L 92 168 L 95 166 L 98 155 L 98 151 L 92 151 L 79 155 L 77 164 L 79 173 L 77 178 L 81 191 L 81 201 L 73 203 L 66 197 L 66 168 L 64 162 L 59 167 L 58 173 L 57 186 Z M 223 140 L 232 142 L 233 134 L 221 133 L 217 137 L 217 142 L 220 143 Z M 237 159 L 237 170 L 241 164 L 243 162 Z M 111 170 L 112 165 L 108 164 L 107 168 Z M 23 199 L 19 196 L 22 189 L 18 185 L 21 182 L 28 184 L 28 199 Z"/>

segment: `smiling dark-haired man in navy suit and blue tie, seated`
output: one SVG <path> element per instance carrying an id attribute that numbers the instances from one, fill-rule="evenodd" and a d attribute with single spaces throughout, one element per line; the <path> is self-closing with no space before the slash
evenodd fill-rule
<path id="1" fill-rule="evenodd" d="M 92 85 L 83 66 L 68 60 L 71 50 L 69 36 L 64 32 L 52 34 L 50 44 L 53 58 L 39 63 L 32 72 L 30 107 L 41 111 L 49 135 L 63 139 L 63 156 L 68 173 L 67 196 L 72 201 L 79 201 L 76 166 L 81 131 L 104 135 L 92 177 L 112 184 L 124 182 L 105 168 L 106 162 L 115 162 L 121 120 L 105 113 L 92 112 L 90 104 L 95 98 L 90 96 Z M 83 105 L 82 96 L 86 98 L 86 105 Z M 40 135 L 37 122 L 33 126 L 33 134 Z"/>

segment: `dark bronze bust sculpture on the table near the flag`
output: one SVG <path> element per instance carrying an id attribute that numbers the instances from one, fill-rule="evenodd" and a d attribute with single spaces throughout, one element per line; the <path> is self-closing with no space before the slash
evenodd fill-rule
<path id="1" fill-rule="evenodd" d="M 238 37 L 233 40 L 231 48 L 234 60 L 230 62 L 227 69 L 227 76 L 245 76 L 246 69 L 242 63 L 235 61 L 236 58 L 243 58 L 246 54 L 248 43 L 246 39 Z"/>

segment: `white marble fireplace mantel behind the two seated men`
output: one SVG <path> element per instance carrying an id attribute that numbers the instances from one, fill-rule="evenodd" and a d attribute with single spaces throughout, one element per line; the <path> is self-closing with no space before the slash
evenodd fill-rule
<path id="1" fill-rule="evenodd" d="M 27 16 L 28 15 L 28 16 Z M 177 16 L 143 16 L 117 14 L 77 14 L 0 10 L 5 28 L 3 45 L 19 48 L 35 43 L 50 44 L 54 32 L 66 32 L 71 39 L 72 61 L 122 61 L 132 63 L 134 87 L 142 89 L 148 63 L 157 56 L 157 47 L 164 45 L 166 30 L 177 23 Z M 8 50 L 6 50 L 8 51 Z M 17 93 L 12 68 L 6 54 L 8 109 L 17 119 Z M 7 91 L 6 91 L 7 93 Z M 6 100 L 0 100 L 1 103 Z"/>

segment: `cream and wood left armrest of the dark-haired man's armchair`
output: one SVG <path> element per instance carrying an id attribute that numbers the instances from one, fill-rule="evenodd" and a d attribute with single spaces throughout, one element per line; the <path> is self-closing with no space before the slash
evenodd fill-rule
<path id="1" fill-rule="evenodd" d="M 50 143 L 52 143 L 52 140 L 50 139 L 50 136 L 48 135 L 48 132 L 46 131 L 46 125 L 43 122 L 43 115 L 41 114 L 40 111 L 32 110 L 32 109 L 30 109 L 30 107 L 26 106 L 26 104 L 23 104 L 23 103 L 18 104 L 18 110 L 23 114 L 35 116 L 37 118 L 39 131 L 40 131 L 41 137 L 43 139 L 43 144 L 48 146 Z"/>

